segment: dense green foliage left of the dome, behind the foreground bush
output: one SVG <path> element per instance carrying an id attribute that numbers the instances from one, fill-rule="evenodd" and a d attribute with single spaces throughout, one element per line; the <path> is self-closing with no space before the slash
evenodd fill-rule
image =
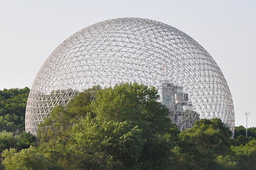
<path id="1" fill-rule="evenodd" d="M 0 155 L 5 149 L 17 152 L 35 145 L 35 135 L 24 132 L 28 93 L 28 87 L 0 91 Z"/>

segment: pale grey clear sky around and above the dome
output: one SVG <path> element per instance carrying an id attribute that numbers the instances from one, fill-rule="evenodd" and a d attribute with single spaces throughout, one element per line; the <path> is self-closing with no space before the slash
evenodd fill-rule
<path id="1" fill-rule="evenodd" d="M 256 127 L 255 0 L 0 0 L 0 90 L 31 88 L 47 57 L 69 36 L 112 18 L 148 18 L 199 42 L 221 68 L 235 126 Z"/>

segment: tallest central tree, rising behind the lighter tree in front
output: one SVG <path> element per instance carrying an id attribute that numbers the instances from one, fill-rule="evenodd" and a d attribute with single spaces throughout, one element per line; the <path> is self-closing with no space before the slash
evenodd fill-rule
<path id="1" fill-rule="evenodd" d="M 96 120 L 127 121 L 142 130 L 146 141 L 136 164 L 139 169 L 167 169 L 172 162 L 170 149 L 176 145 L 177 128 L 169 119 L 169 110 L 161 103 L 157 90 L 140 84 L 121 84 L 99 91 L 92 102 Z"/>

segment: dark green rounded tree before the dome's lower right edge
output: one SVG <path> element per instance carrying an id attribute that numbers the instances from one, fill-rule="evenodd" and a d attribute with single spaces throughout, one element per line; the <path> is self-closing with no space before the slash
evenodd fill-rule
<path id="1" fill-rule="evenodd" d="M 220 119 L 201 119 L 179 134 L 174 149 L 182 169 L 223 169 L 216 158 L 230 153 L 231 132 Z"/>

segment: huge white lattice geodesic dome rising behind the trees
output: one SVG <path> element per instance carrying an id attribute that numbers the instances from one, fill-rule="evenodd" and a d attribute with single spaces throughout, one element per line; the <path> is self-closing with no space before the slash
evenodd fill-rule
<path id="1" fill-rule="evenodd" d="M 182 130 L 198 118 L 221 118 L 234 127 L 226 79 L 199 43 L 165 23 L 118 18 L 80 30 L 52 52 L 28 96 L 26 131 L 36 134 L 52 108 L 79 91 L 124 82 L 157 87 Z"/>

